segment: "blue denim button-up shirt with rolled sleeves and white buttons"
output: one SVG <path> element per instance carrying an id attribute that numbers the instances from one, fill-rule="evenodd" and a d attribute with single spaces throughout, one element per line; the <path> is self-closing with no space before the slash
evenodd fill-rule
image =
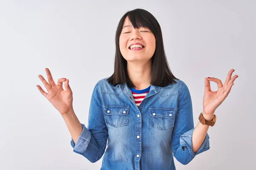
<path id="1" fill-rule="evenodd" d="M 182 80 L 165 87 L 151 85 L 137 107 L 126 83 L 113 86 L 107 78 L 93 89 L 88 126 L 81 123 L 76 143 L 71 138 L 75 153 L 90 162 L 104 155 L 100 170 L 175 170 L 173 156 L 188 164 L 209 150 L 207 133 L 199 150 L 192 151 L 192 100 Z"/>

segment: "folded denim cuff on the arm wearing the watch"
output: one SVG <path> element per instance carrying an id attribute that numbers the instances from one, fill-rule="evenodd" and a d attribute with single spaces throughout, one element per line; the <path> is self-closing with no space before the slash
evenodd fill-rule
<path id="1" fill-rule="evenodd" d="M 192 147 L 192 134 L 193 134 L 193 131 L 194 131 L 195 128 L 185 132 L 183 135 L 180 136 L 180 146 L 181 146 L 181 149 L 183 151 L 186 152 L 186 149 L 188 149 L 189 153 L 192 155 L 192 156 L 196 156 L 198 155 L 199 153 L 202 153 L 206 150 L 209 150 L 210 148 L 210 143 L 209 143 L 209 135 L 208 133 L 206 133 L 206 136 L 204 138 L 204 142 L 201 144 L 200 148 L 198 149 L 198 151 L 196 153 L 193 152 L 193 147 Z"/>

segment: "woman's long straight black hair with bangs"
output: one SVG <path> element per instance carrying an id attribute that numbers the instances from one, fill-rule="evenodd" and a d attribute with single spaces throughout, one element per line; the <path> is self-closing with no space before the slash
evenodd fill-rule
<path id="1" fill-rule="evenodd" d="M 131 24 L 134 28 L 148 28 L 154 34 L 156 39 L 156 49 L 151 57 L 151 85 L 164 87 L 169 85 L 169 83 L 177 83 L 174 79 L 177 79 L 171 72 L 165 51 L 163 48 L 163 36 L 159 23 L 156 18 L 148 11 L 144 9 L 134 9 L 132 11 L 126 12 L 116 29 L 116 54 L 114 63 L 114 73 L 107 80 L 111 85 L 127 83 L 128 87 L 136 88 L 136 86 L 131 82 L 127 73 L 127 61 L 122 57 L 119 48 L 119 37 L 122 32 L 122 26 L 125 18 L 128 16 Z M 179 80 L 179 79 L 178 79 Z"/>

